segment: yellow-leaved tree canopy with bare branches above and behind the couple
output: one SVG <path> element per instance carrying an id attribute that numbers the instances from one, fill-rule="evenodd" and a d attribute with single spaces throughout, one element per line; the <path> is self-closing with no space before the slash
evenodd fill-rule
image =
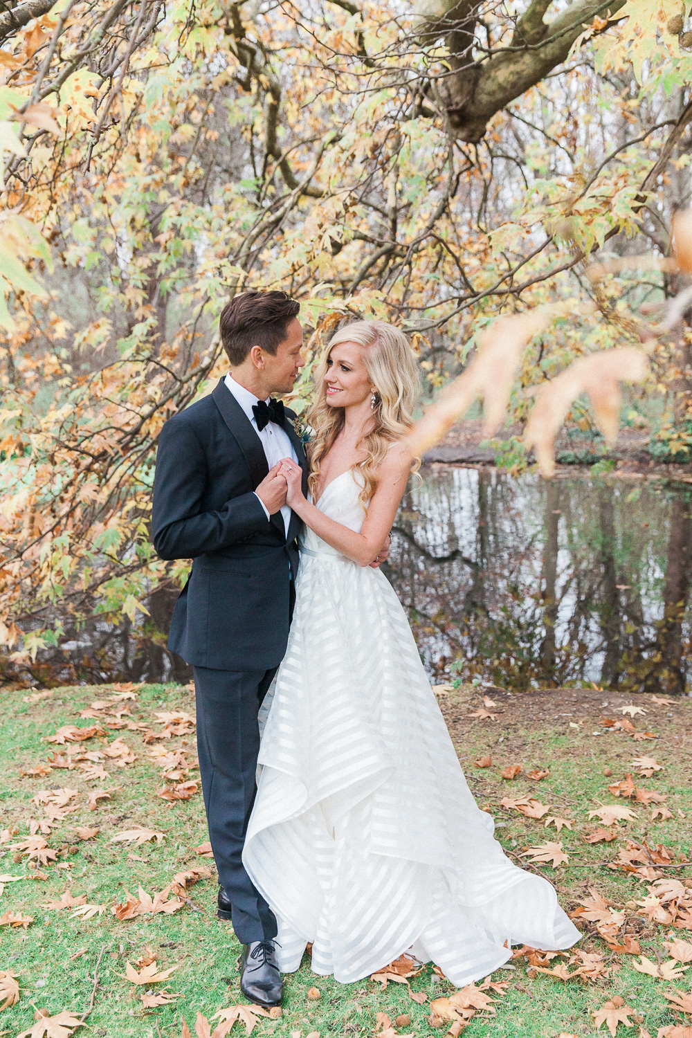
<path id="1" fill-rule="evenodd" d="M 225 370 L 216 325 L 233 292 L 295 295 L 310 360 L 344 315 L 391 320 L 432 388 L 496 317 L 551 304 L 520 418 L 523 390 L 638 343 L 633 313 L 682 286 L 666 257 L 689 203 L 686 18 L 677 0 L 6 6 L 10 662 L 30 668 L 58 616 L 134 620 L 182 578 L 148 540 L 157 438 Z M 593 279 L 596 253 L 649 258 Z M 686 335 L 654 351 L 677 420 Z"/>

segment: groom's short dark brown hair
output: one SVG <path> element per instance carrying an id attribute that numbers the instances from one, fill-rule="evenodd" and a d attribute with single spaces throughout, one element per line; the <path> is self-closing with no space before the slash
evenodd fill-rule
<path id="1" fill-rule="evenodd" d="M 221 344 L 233 367 L 242 364 L 253 346 L 272 356 L 286 337 L 286 327 L 298 317 L 300 303 L 285 292 L 243 292 L 221 310 Z"/>

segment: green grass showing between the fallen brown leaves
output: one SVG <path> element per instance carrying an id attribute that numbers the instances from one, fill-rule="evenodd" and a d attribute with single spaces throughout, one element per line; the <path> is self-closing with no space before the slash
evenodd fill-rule
<path id="1" fill-rule="evenodd" d="M 28 836 L 29 818 L 44 817 L 43 809 L 31 801 L 38 790 L 66 786 L 79 789 L 80 797 L 79 810 L 57 823 L 47 837 L 51 847 L 65 848 L 58 865 L 68 868 L 49 865 L 44 870 L 49 877 L 45 881 L 27 878 L 7 883 L 0 899 L 0 914 L 11 909 L 28 912 L 34 919 L 27 930 L 0 928 L 0 968 L 15 971 L 21 984 L 18 1005 L 0 1013 L 0 1033 L 15 1036 L 31 1027 L 34 1007 L 45 1008 L 51 1014 L 72 1010 L 81 1015 L 89 1005 L 93 969 L 102 950 L 94 1008 L 87 1020 L 91 1033 L 101 1038 L 131 1035 L 179 1038 L 183 1018 L 194 1033 L 197 1012 L 211 1017 L 240 998 L 237 969 L 240 948 L 229 925 L 216 919 L 215 876 L 201 880 L 189 892 L 199 910 L 186 906 L 171 916 L 140 917 L 129 922 L 117 921 L 110 911 L 112 904 L 123 900 L 124 890 L 136 895 L 141 883 L 153 894 L 166 886 L 177 871 L 199 865 L 213 867 L 211 859 L 200 857 L 194 849 L 207 839 L 201 794 L 172 807 L 157 797 L 156 791 L 162 785 L 160 768 L 147 755 L 149 747 L 143 744 L 140 733 L 127 730 L 111 732 L 110 741 L 115 736 L 123 738 L 137 755 L 137 761 L 122 768 L 106 761 L 107 781 L 86 782 L 77 769 L 56 769 L 44 777 L 20 777 L 22 766 L 45 762 L 54 749 L 64 752 L 64 747 L 41 741 L 58 726 L 96 723 L 80 719 L 80 710 L 94 699 L 106 699 L 108 691 L 107 686 L 56 689 L 51 699 L 36 704 L 23 702 L 25 691 L 4 692 L 4 723 L 0 730 L 0 827 L 17 826 L 19 832 L 11 841 L 0 845 L 0 873 L 31 875 L 26 857 L 13 861 L 15 852 L 8 847 Z M 562 841 L 570 854 L 569 866 L 556 870 L 542 867 L 536 871 L 556 884 L 560 901 L 566 908 L 574 907 L 589 886 L 597 887 L 617 906 L 640 900 L 646 894 L 642 879 L 613 872 L 603 863 L 616 856 L 617 848 L 624 846 L 628 837 L 646 839 L 649 845 L 664 843 L 676 852 L 689 854 L 692 784 L 686 740 L 691 728 L 692 702 L 676 705 L 670 717 L 666 708 L 649 711 L 646 727 L 659 738 L 634 742 L 624 734 L 594 738 L 592 719 L 579 730 L 569 728 L 569 718 L 531 720 L 522 700 L 520 695 L 507 698 L 506 703 L 503 700 L 503 712 L 496 722 L 468 719 L 469 705 L 478 706 L 480 702 L 479 694 L 470 686 L 464 686 L 443 701 L 452 738 L 478 802 L 491 808 L 495 818 L 505 823 L 497 830 L 499 839 L 515 855 L 527 845 L 547 840 Z M 529 703 L 530 696 L 524 702 Z M 646 701 L 642 696 L 636 702 Z M 181 708 L 194 713 L 190 691 L 176 686 L 145 686 L 137 691 L 137 702 L 130 705 L 133 719 L 142 723 L 153 722 L 157 710 Z M 556 712 L 560 709 L 557 707 Z M 596 716 L 599 711 L 593 709 Z M 614 714 L 611 712 L 610 716 Z M 640 721 L 641 718 L 635 718 L 637 727 L 643 728 Z M 80 745 L 88 750 L 98 749 L 103 743 L 103 739 L 95 737 Z M 174 737 L 163 745 L 185 748 L 194 757 L 194 735 Z M 474 767 L 473 760 L 488 752 L 493 754 L 494 766 L 483 770 Z M 631 770 L 628 762 L 643 754 L 656 757 L 665 767 L 653 778 L 637 778 L 637 785 L 667 793 L 667 805 L 674 818 L 652 823 L 652 809 L 635 804 L 639 820 L 621 826 L 621 839 L 606 845 L 585 843 L 584 832 L 596 824 L 587 821 L 588 811 L 599 803 L 622 802 L 608 793 L 607 785 L 622 778 Z M 505 782 L 500 778 L 500 767 L 508 763 L 521 763 L 525 771 L 536 765 L 549 766 L 550 775 L 539 783 L 524 776 Z M 606 766 L 612 769 L 612 777 L 604 776 Z M 190 777 L 196 774 L 193 771 Z M 87 808 L 86 793 L 95 786 L 119 786 L 121 789 L 111 800 L 101 800 L 99 810 L 91 812 Z M 557 836 L 554 828 L 544 828 L 542 821 L 499 808 L 502 796 L 528 793 L 550 803 L 554 809 L 551 814 L 574 818 L 574 831 L 562 829 Z M 682 818 L 679 810 L 687 818 Z M 98 825 L 101 832 L 93 841 L 76 842 L 74 830 L 78 825 Z M 108 843 L 115 832 L 135 825 L 162 830 L 166 835 L 165 842 L 161 846 L 145 844 L 134 849 Z M 76 852 L 71 853 L 68 847 L 76 848 Z M 134 859 L 132 854 L 143 861 Z M 692 867 L 673 870 L 672 874 L 690 879 L 692 885 Z M 58 898 L 65 887 L 74 895 L 87 894 L 89 903 L 105 904 L 106 911 L 100 918 L 83 922 L 66 910 L 41 907 L 41 902 Z M 692 939 L 685 930 L 674 933 Z M 643 954 L 656 959 L 657 951 L 664 952 L 666 935 L 665 927 L 643 927 L 639 938 Z M 156 954 L 160 968 L 179 966 L 165 984 L 155 988 L 181 992 L 181 998 L 150 1011 L 144 1010 L 138 998 L 133 996 L 133 986 L 123 978 L 127 961 L 134 962 L 147 946 Z M 610 956 L 613 972 L 608 978 L 589 985 L 576 981 L 564 984 L 542 975 L 531 978 L 525 960 L 517 960 L 515 969 L 499 969 L 493 977 L 495 981 L 509 982 L 504 998 L 497 1000 L 497 1016 L 483 1019 L 476 1015 L 465 1034 L 469 1038 L 482 1035 L 552 1038 L 560 1032 L 592 1036 L 598 1032 L 590 1014 L 615 994 L 621 995 L 636 1010 L 637 1019 L 652 1035 L 656 1035 L 657 1029 L 675 1022 L 675 1015 L 666 1008 L 663 998 L 663 991 L 672 989 L 671 984 L 638 974 L 632 968 L 630 956 L 611 956 L 607 946 L 592 933 L 584 935 L 582 947 Z M 75 957 L 82 949 L 86 952 Z M 690 977 L 692 981 L 692 969 Z M 691 981 L 684 978 L 675 982 L 675 986 L 689 990 Z M 453 990 L 431 966 L 411 984 L 412 990 L 425 992 L 428 1002 Z M 307 996 L 312 986 L 320 989 L 317 1001 Z M 419 1006 L 411 1001 L 405 985 L 389 984 L 383 991 L 369 979 L 357 984 L 336 984 L 331 978 L 315 977 L 306 957 L 300 971 L 285 978 L 282 1017 L 260 1019 L 254 1033 L 276 1036 L 300 1033 L 302 1038 L 312 1031 L 319 1032 L 322 1038 L 326 1035 L 369 1036 L 376 1027 L 378 1012 L 386 1012 L 392 1019 L 408 1014 L 411 1023 L 397 1028 L 407 1033 L 443 1035 L 447 1030 L 447 1026 L 439 1031 L 431 1028 L 428 1003 Z M 684 1021 L 680 1019 L 679 1022 Z M 690 1025 L 692 1020 L 687 1022 Z M 232 1033 L 244 1033 L 242 1025 L 237 1023 Z M 617 1033 L 618 1036 L 639 1034 L 636 1028 L 620 1028 Z M 605 1029 L 601 1034 L 607 1034 Z"/>

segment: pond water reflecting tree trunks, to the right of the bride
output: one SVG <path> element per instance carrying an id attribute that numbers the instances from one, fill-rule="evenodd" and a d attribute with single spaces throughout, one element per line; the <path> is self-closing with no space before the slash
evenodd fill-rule
<path id="1" fill-rule="evenodd" d="M 388 576 L 432 674 L 508 688 L 684 691 L 690 492 L 434 467 L 407 494 Z"/>

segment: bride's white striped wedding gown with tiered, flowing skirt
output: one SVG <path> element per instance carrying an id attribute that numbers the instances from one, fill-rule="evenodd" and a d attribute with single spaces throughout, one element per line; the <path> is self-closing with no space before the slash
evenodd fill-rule
<path id="1" fill-rule="evenodd" d="M 359 474 L 317 507 L 360 529 Z M 379 570 L 306 529 L 288 647 L 268 695 L 243 861 L 278 921 L 282 972 L 349 983 L 413 948 L 456 985 L 509 946 L 580 937 L 517 868 L 469 791 L 404 609 Z"/>

